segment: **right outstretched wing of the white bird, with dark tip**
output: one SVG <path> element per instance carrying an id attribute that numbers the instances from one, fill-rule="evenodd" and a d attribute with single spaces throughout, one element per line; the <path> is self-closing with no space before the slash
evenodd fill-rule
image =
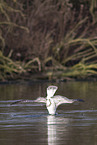
<path id="1" fill-rule="evenodd" d="M 75 101 L 84 102 L 84 100 L 82 99 L 68 99 L 67 97 L 60 96 L 60 95 L 54 96 L 54 102 L 56 103 L 56 107 L 58 107 L 61 104 L 73 103 Z"/>

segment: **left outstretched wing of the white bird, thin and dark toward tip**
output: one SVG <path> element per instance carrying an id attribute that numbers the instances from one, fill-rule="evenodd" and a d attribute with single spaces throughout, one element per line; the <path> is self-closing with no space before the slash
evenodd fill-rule
<path id="1" fill-rule="evenodd" d="M 43 97 L 38 97 L 36 100 L 17 100 L 13 103 L 11 103 L 11 105 L 15 105 L 15 104 L 19 104 L 19 103 L 33 103 L 33 102 L 36 102 L 36 103 L 46 103 L 46 99 L 43 98 Z"/>

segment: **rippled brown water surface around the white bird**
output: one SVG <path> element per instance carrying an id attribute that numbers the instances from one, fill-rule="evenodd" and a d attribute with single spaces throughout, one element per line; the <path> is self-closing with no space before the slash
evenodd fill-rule
<path id="1" fill-rule="evenodd" d="M 46 88 L 57 85 L 56 94 L 84 99 L 84 103 L 61 105 L 57 115 L 48 115 L 44 104 L 10 106 L 18 99 L 46 96 Z M 0 145 L 96 145 L 97 83 L 21 83 L 0 85 Z"/>

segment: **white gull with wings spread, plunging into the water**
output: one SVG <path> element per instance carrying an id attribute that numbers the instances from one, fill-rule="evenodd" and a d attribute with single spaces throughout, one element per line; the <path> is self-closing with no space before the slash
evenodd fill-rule
<path id="1" fill-rule="evenodd" d="M 48 110 L 48 113 L 50 115 L 56 114 L 56 109 L 61 104 L 71 104 L 76 101 L 78 102 L 84 102 L 82 99 L 68 99 L 67 97 L 61 96 L 61 95 L 55 95 L 56 90 L 58 89 L 57 86 L 49 86 L 47 88 L 47 97 L 38 97 L 36 100 L 18 100 L 16 102 L 13 102 L 11 105 L 17 104 L 17 103 L 26 103 L 26 102 L 38 102 L 38 103 L 45 103 L 46 108 Z"/>

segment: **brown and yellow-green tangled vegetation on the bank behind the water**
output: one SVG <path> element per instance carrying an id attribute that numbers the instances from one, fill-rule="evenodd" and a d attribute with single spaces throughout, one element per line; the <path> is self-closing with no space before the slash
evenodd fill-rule
<path id="1" fill-rule="evenodd" d="M 1 0 L 0 80 L 97 77 L 97 0 Z"/>

